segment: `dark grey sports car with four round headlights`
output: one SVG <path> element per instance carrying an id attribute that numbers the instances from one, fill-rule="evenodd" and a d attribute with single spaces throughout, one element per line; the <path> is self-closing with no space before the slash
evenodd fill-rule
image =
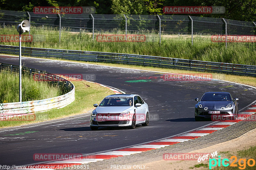
<path id="1" fill-rule="evenodd" d="M 206 92 L 195 105 L 195 120 L 211 118 L 217 120 L 235 120 L 238 116 L 238 98 L 233 99 L 228 92 Z"/>

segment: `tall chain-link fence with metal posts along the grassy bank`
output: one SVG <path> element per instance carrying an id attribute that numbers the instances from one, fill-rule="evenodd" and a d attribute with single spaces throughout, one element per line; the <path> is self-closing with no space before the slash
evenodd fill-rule
<path id="1" fill-rule="evenodd" d="M 59 30 L 52 36 L 68 38 L 70 34 L 62 32 L 88 32 L 95 40 L 95 35 L 143 34 L 146 41 L 167 40 L 170 38 L 184 38 L 187 41 L 200 38 L 212 39 L 214 42 L 232 42 L 227 36 L 253 35 L 255 39 L 256 23 L 229 20 L 224 18 L 204 18 L 194 16 L 175 15 L 101 15 L 101 14 L 35 14 L 33 12 L 0 10 L 0 24 L 18 25 L 22 20 L 28 19 L 31 27 L 42 27 Z M 65 37 L 66 36 L 66 37 Z M 213 36 L 217 36 L 217 39 Z M 219 37 L 218 37 L 219 36 Z M 224 39 L 223 39 L 224 37 Z M 247 37 L 248 38 L 248 37 Z M 243 42 L 243 41 L 241 41 Z M 251 42 L 251 41 L 249 41 Z"/>

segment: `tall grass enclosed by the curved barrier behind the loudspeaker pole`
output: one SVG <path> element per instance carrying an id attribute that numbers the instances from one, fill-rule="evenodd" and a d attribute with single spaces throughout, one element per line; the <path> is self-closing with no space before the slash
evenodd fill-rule
<path id="1" fill-rule="evenodd" d="M 0 103 L 19 102 L 19 74 L 0 71 Z M 60 96 L 57 86 L 46 81 L 34 81 L 28 74 L 22 74 L 22 101 L 41 100 Z"/>

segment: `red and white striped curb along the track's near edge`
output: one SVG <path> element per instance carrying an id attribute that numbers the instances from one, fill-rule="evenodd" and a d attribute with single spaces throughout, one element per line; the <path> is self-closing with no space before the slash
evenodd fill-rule
<path id="1" fill-rule="evenodd" d="M 37 164 L 37 165 L 33 165 L 33 166 L 34 167 L 35 166 L 44 167 L 44 168 L 36 168 L 37 170 L 39 170 L 39 169 L 45 170 L 46 168 L 57 169 L 57 167 L 60 167 L 60 166 L 62 166 L 62 167 L 63 166 L 70 167 L 72 165 L 77 166 L 77 165 L 81 165 L 81 164 L 87 164 L 90 162 L 101 161 L 104 159 L 111 159 L 111 158 L 116 158 L 116 157 L 120 157 L 120 156 L 126 156 L 126 155 L 132 155 L 132 154 L 136 154 L 136 153 L 146 152 L 146 151 L 149 151 L 152 149 L 163 148 L 165 146 L 170 146 L 170 145 L 185 142 L 188 140 L 200 138 L 200 137 L 206 136 L 210 133 L 213 133 L 215 131 L 219 131 L 219 130 L 226 128 L 232 124 L 236 124 L 240 121 L 243 121 L 244 119 L 250 117 L 255 112 L 256 112 L 256 103 L 252 104 L 250 107 L 243 110 L 242 112 L 239 112 L 239 115 L 236 118 L 236 120 L 219 121 L 214 124 L 203 127 L 201 129 L 197 129 L 195 131 L 190 131 L 190 132 L 182 134 L 182 135 L 159 140 L 156 142 L 150 142 L 150 143 L 143 144 L 143 145 L 128 147 L 128 148 L 124 148 L 124 149 L 118 149 L 115 151 L 102 152 L 102 153 L 98 153 L 98 154 L 94 154 L 94 155 L 83 156 L 83 157 L 79 157 L 78 159 L 65 159 L 65 160 L 59 160 L 59 161 L 49 162 L 49 163 L 45 163 L 45 164 Z M 31 170 L 31 168 L 25 168 L 25 169 Z M 62 168 L 60 168 L 60 169 L 62 169 Z"/>

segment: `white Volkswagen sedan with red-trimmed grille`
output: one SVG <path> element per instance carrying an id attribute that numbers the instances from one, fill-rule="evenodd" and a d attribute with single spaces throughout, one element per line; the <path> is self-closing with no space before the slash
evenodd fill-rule
<path id="1" fill-rule="evenodd" d="M 148 104 L 139 95 L 116 94 L 106 96 L 92 111 L 90 127 L 130 126 L 132 129 L 137 124 L 148 126 Z"/>

